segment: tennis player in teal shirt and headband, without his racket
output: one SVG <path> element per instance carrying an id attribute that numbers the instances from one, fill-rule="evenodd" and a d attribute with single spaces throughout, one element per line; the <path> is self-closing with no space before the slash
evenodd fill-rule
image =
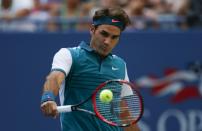
<path id="1" fill-rule="evenodd" d="M 55 97 L 61 105 L 80 103 L 106 80 L 128 80 L 126 63 L 111 53 L 118 44 L 121 32 L 130 24 L 128 15 L 120 8 L 97 10 L 90 27 L 90 43 L 82 41 L 78 47 L 62 48 L 53 58 L 41 99 L 46 116 L 57 117 Z M 87 104 L 89 109 L 92 105 Z M 121 128 L 110 126 L 84 112 L 60 115 L 62 131 L 123 131 L 139 130 L 137 125 Z"/>

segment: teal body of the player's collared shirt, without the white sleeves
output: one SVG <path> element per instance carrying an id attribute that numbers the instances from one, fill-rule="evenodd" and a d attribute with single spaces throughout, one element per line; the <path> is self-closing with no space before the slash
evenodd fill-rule
<path id="1" fill-rule="evenodd" d="M 72 55 L 72 67 L 65 80 L 63 105 L 74 105 L 88 98 L 96 87 L 110 79 L 125 79 L 125 62 L 112 54 L 105 59 L 85 42 L 68 48 Z M 114 69 L 113 69 L 114 68 Z M 91 100 L 83 108 L 93 110 Z M 61 115 L 63 131 L 122 131 L 85 112 Z"/>

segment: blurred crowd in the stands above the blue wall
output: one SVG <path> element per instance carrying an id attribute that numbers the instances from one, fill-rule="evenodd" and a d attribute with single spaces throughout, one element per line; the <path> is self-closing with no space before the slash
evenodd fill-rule
<path id="1" fill-rule="evenodd" d="M 127 30 L 202 28 L 202 0 L 0 0 L 0 31 L 86 31 L 97 9 L 117 6 Z"/>

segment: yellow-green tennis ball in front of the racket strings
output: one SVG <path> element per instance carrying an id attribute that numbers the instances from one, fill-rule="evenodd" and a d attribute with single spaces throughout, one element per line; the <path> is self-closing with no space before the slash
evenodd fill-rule
<path id="1" fill-rule="evenodd" d="M 109 103 L 113 99 L 113 93 L 111 90 L 105 89 L 100 92 L 100 101 L 103 103 Z"/>

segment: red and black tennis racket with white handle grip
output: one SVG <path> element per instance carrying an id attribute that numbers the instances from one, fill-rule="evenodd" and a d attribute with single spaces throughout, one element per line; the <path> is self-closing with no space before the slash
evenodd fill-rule
<path id="1" fill-rule="evenodd" d="M 113 99 L 108 103 L 100 100 L 100 93 L 105 89 L 113 93 Z M 93 110 L 83 107 L 90 99 Z M 143 99 L 132 83 L 125 80 L 109 80 L 100 84 L 93 94 L 81 103 L 58 106 L 57 110 L 59 113 L 82 111 L 98 117 L 109 125 L 126 127 L 137 123 L 142 117 Z"/>

